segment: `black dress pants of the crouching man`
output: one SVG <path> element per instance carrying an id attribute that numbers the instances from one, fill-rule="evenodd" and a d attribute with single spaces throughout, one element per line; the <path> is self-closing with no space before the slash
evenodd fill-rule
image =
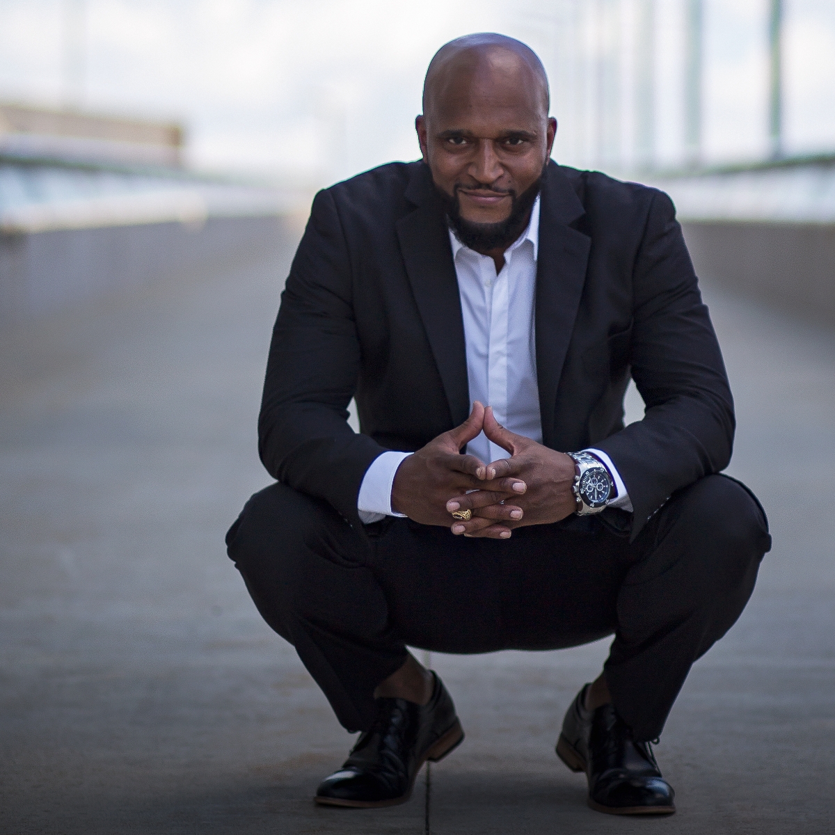
<path id="1" fill-rule="evenodd" d="M 606 681 L 638 740 L 660 735 L 692 663 L 741 614 L 771 544 L 757 499 L 721 475 L 674 494 L 632 543 L 600 516 L 509 540 L 393 518 L 366 532 L 276 483 L 226 536 L 261 615 L 349 731 L 372 725 L 373 691 L 406 645 L 552 650 L 614 634 Z"/>

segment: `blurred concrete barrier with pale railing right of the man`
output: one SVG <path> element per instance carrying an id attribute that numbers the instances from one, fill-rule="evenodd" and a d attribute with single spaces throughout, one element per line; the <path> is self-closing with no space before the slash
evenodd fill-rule
<path id="1" fill-rule="evenodd" d="M 835 155 L 650 180 L 675 201 L 703 278 L 835 326 Z"/>

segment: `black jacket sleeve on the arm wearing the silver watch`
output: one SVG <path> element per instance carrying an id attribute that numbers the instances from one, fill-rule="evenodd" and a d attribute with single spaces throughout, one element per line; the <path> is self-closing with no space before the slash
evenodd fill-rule
<path id="1" fill-rule="evenodd" d="M 733 398 L 672 201 L 657 192 L 635 258 L 630 347 L 645 417 L 595 447 L 635 509 L 632 538 L 671 493 L 731 460 Z"/>

